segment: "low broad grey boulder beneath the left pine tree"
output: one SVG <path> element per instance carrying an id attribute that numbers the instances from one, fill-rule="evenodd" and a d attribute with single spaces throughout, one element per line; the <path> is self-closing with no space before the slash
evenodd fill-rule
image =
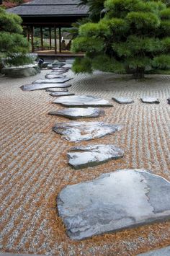
<path id="1" fill-rule="evenodd" d="M 27 77 L 35 76 L 40 73 L 40 68 L 37 65 L 25 65 L 25 66 L 12 66 L 2 69 L 2 74 L 9 77 Z"/>

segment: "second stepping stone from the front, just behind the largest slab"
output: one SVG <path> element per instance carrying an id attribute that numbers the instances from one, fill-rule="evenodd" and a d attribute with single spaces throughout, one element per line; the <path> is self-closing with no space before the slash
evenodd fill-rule
<path id="1" fill-rule="evenodd" d="M 68 152 L 68 164 L 74 169 L 82 169 L 103 164 L 124 155 L 122 149 L 114 145 L 76 146 Z"/>

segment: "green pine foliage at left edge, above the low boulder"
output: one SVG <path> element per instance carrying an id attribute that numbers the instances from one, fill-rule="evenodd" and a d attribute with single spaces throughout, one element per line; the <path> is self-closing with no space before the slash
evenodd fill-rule
<path id="1" fill-rule="evenodd" d="M 16 14 L 9 14 L 0 8 L 0 49 L 9 60 L 18 65 L 23 63 L 28 51 L 27 39 L 22 35 L 22 19 Z M 26 61 L 30 62 L 30 61 Z"/>

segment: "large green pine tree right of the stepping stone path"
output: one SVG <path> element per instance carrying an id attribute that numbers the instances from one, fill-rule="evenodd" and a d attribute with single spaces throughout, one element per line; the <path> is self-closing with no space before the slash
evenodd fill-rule
<path id="1" fill-rule="evenodd" d="M 147 67 L 170 69 L 169 5 L 169 0 L 104 1 L 104 17 L 81 25 L 73 40 L 71 50 L 86 53 L 76 59 L 73 71 L 121 74 L 133 69 L 140 79 Z"/>

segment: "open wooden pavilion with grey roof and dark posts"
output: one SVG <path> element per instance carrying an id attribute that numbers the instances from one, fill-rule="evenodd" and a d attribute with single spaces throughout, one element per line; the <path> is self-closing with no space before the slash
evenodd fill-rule
<path id="1" fill-rule="evenodd" d="M 79 0 L 34 0 L 27 4 L 8 9 L 8 12 L 18 14 L 22 17 L 22 25 L 27 29 L 27 38 L 32 45 L 32 52 L 35 52 L 34 30 L 40 28 L 40 51 L 45 55 L 63 55 L 67 52 L 62 51 L 61 41 L 62 28 L 71 27 L 73 22 L 83 17 L 88 17 L 86 6 L 79 6 Z M 48 51 L 43 44 L 44 29 L 49 32 Z M 52 37 L 53 31 L 53 37 Z M 58 36 L 58 37 L 57 37 Z M 52 45 L 53 42 L 53 45 Z M 58 42 L 58 43 L 57 43 Z M 68 53 L 69 54 L 69 53 Z"/>

